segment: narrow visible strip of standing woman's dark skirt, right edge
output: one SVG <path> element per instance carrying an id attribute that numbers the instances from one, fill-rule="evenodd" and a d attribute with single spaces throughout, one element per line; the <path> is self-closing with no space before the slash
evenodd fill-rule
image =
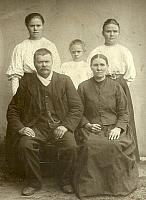
<path id="1" fill-rule="evenodd" d="M 134 140 L 136 143 L 136 148 L 134 151 L 134 154 L 136 156 L 136 161 L 139 162 L 140 161 L 140 156 L 139 156 L 139 150 L 138 150 L 138 142 L 137 142 L 137 135 L 136 135 L 136 127 L 135 127 L 135 120 L 134 120 L 134 109 L 133 109 L 133 103 L 132 103 L 132 99 L 131 99 L 131 94 L 130 94 L 130 90 L 129 87 L 125 81 L 125 79 L 123 77 L 119 77 L 117 79 L 115 79 L 116 81 L 118 81 L 120 83 L 120 85 L 122 86 L 126 96 L 127 96 L 127 101 L 128 101 L 128 108 L 129 108 L 129 125 L 132 128 L 132 133 L 134 136 Z"/>

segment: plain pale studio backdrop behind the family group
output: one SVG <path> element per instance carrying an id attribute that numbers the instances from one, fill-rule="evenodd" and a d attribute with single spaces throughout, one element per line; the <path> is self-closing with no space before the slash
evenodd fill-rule
<path id="1" fill-rule="evenodd" d="M 5 75 L 13 48 L 28 37 L 24 18 L 39 12 L 45 18 L 44 36 L 54 42 L 62 62 L 71 59 L 68 46 L 79 38 L 86 56 L 103 44 L 103 22 L 115 18 L 120 24 L 120 43 L 133 54 L 137 76 L 131 84 L 138 144 L 146 156 L 146 1 L 145 0 L 0 0 L 0 138 L 6 131 L 6 110 L 12 97 Z"/>

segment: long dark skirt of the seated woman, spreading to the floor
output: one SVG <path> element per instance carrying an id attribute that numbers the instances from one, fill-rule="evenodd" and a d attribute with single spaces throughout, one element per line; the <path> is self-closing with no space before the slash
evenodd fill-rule
<path id="1" fill-rule="evenodd" d="M 100 134 L 86 133 L 80 146 L 74 174 L 74 190 L 82 197 L 98 195 L 128 195 L 137 188 L 138 169 L 133 154 L 135 142 L 130 129 L 118 140 L 109 140 L 111 126 L 104 127 Z"/>

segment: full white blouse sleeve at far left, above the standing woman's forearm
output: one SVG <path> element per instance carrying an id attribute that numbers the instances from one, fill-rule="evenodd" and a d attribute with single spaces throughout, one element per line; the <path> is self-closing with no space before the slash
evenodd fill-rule
<path id="1" fill-rule="evenodd" d="M 23 51 L 20 44 L 17 45 L 13 50 L 11 56 L 11 63 L 10 66 L 8 67 L 6 75 L 8 76 L 9 80 L 11 80 L 13 77 L 21 78 L 24 75 Z"/>

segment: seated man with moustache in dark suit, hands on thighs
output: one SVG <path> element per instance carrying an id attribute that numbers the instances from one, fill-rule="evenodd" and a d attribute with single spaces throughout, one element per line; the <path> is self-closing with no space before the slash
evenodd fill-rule
<path id="1" fill-rule="evenodd" d="M 39 148 L 47 142 L 65 155 L 67 162 L 60 186 L 63 192 L 73 192 L 71 183 L 77 156 L 74 130 L 82 117 L 83 106 L 71 79 L 53 72 L 52 64 L 49 50 L 37 50 L 34 54 L 37 73 L 24 75 L 8 106 L 7 160 L 12 167 L 15 154 L 21 163 L 25 172 L 22 189 L 25 196 L 42 186 Z"/>

